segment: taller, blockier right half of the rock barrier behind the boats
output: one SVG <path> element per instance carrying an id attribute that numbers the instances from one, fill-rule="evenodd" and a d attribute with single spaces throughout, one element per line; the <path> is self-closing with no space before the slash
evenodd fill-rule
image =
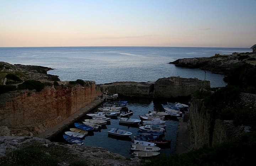
<path id="1" fill-rule="evenodd" d="M 210 82 L 197 78 L 160 78 L 155 82 L 154 97 L 176 98 L 189 96 L 201 88 L 210 88 Z"/>

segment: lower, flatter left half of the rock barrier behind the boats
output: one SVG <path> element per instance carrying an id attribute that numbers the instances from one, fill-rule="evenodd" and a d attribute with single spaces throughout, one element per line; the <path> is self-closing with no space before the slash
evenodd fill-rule
<path id="1" fill-rule="evenodd" d="M 155 82 L 113 82 L 100 85 L 101 92 L 118 93 L 124 96 L 153 97 Z"/>

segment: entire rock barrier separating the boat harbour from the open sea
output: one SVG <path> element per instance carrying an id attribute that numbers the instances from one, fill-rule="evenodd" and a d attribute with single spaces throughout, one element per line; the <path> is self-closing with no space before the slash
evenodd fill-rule
<path id="1" fill-rule="evenodd" d="M 209 88 L 209 81 L 197 78 L 169 77 L 156 82 L 113 82 L 100 85 L 101 92 L 146 98 L 175 98 L 189 96 L 201 88 Z"/>

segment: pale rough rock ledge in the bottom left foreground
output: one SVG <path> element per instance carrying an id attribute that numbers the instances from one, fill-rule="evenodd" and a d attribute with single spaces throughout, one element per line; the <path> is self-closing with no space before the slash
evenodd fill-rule
<path id="1" fill-rule="evenodd" d="M 2 156 L 11 150 L 24 147 L 31 144 L 39 144 L 46 148 L 49 152 L 46 155 L 51 155 L 60 149 L 65 149 L 66 157 L 62 157 L 62 161 L 58 165 L 69 165 L 73 161 L 81 161 L 86 165 L 106 165 L 106 166 L 134 166 L 141 165 L 141 160 L 136 157 L 134 159 L 126 159 L 124 156 L 117 153 L 112 153 L 104 148 L 96 148 L 91 146 L 59 144 L 50 142 L 48 139 L 37 137 L 0 137 L 0 160 Z"/>

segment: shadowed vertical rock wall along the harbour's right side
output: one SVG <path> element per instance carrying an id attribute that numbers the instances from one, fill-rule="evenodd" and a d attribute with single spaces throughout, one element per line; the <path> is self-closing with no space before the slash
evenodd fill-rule
<path id="1" fill-rule="evenodd" d="M 247 97 L 245 96 L 245 98 Z M 204 107 L 203 100 L 192 100 L 189 116 L 188 128 L 191 149 L 198 149 L 203 145 L 213 146 L 223 142 L 230 142 L 248 131 L 248 126 L 234 126 L 232 120 L 215 118 Z"/>

